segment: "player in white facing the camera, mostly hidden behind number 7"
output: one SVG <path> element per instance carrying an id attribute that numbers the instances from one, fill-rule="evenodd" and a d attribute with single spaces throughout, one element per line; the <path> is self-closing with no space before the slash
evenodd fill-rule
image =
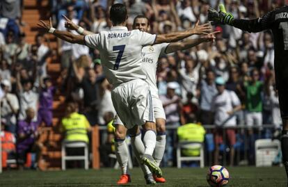
<path id="1" fill-rule="evenodd" d="M 64 16 L 65 17 L 65 16 Z M 71 30 L 79 30 L 79 26 L 74 24 L 70 19 L 65 17 L 66 23 L 65 26 Z M 139 29 L 140 31 L 149 31 L 150 26 L 147 17 L 143 15 L 138 15 L 134 19 L 134 29 Z M 198 23 L 196 24 L 196 27 Z M 81 31 L 79 34 L 82 35 L 89 35 L 90 31 Z M 215 32 L 217 33 L 217 32 Z M 214 33 L 210 33 L 209 35 L 205 35 L 202 38 L 198 38 L 195 40 L 189 40 L 188 42 L 175 42 L 175 43 L 162 43 L 162 44 L 154 44 L 150 46 L 143 47 L 141 56 L 142 56 L 142 68 L 145 74 L 147 75 L 147 83 L 150 86 L 150 92 L 152 95 L 152 103 L 153 103 L 153 110 L 154 115 L 156 118 L 156 125 L 157 125 L 157 143 L 154 149 L 154 160 L 157 162 L 159 166 L 161 160 L 163 158 L 163 154 L 165 152 L 166 146 L 166 115 L 163 110 L 163 104 L 158 96 L 158 88 L 157 88 L 157 80 L 156 80 L 156 71 L 158 65 L 158 58 L 161 54 L 168 54 L 173 53 L 177 50 L 184 50 L 194 47 L 201 42 L 209 42 L 214 39 Z M 115 149 L 116 149 L 116 156 L 118 158 L 118 162 L 120 164 L 120 168 L 122 169 L 122 175 L 118 181 L 118 184 L 127 184 L 131 181 L 130 176 L 127 172 L 127 163 L 128 163 L 128 154 L 129 151 L 127 146 L 125 145 L 125 138 L 127 134 L 127 129 L 125 128 L 124 124 L 121 122 L 118 115 L 116 115 L 115 120 L 113 122 L 115 125 Z M 136 139 L 136 146 L 137 143 L 141 143 L 141 134 L 137 134 L 137 136 L 131 137 Z M 138 145 L 141 147 L 141 145 Z M 136 147 L 134 147 L 136 149 Z M 139 148 L 138 148 L 139 149 Z M 144 147 L 143 147 L 144 149 Z M 143 149 L 141 150 L 143 154 Z M 136 152 L 138 154 L 138 152 Z M 140 155 L 136 155 L 136 158 L 141 158 Z M 150 170 L 145 166 L 141 165 L 141 169 L 145 174 L 145 180 L 147 184 L 154 184 L 155 181 L 159 183 L 164 183 L 166 179 L 163 177 L 156 177 L 155 175 L 152 177 Z M 154 178 L 154 179 L 153 179 Z"/>

